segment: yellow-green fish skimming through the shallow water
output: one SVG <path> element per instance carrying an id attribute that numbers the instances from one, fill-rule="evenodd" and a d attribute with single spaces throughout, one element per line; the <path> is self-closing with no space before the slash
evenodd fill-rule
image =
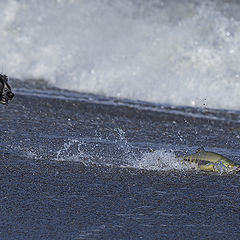
<path id="1" fill-rule="evenodd" d="M 178 157 L 188 167 L 204 172 L 239 173 L 240 165 L 215 152 L 199 148 L 196 153 Z"/>

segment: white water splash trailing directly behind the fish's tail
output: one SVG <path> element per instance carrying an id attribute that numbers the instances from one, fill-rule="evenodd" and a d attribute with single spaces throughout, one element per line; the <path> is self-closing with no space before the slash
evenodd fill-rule
<path id="1" fill-rule="evenodd" d="M 117 129 L 120 139 L 112 146 L 117 152 L 111 157 L 107 152 L 99 155 L 98 151 L 89 151 L 88 144 L 79 140 L 68 140 L 57 152 L 57 161 L 81 162 L 84 165 L 110 166 L 120 168 L 135 168 L 154 171 L 188 170 L 171 151 L 157 150 L 154 152 L 136 152 L 136 149 L 127 142 L 124 131 Z M 99 143 L 95 143 L 99 146 Z M 104 145 L 100 146 L 104 148 Z M 92 149 L 92 148 L 91 148 Z M 97 149 L 97 148 L 95 148 Z M 112 149 L 109 150 L 112 152 Z M 120 152 L 118 151 L 120 149 Z"/>

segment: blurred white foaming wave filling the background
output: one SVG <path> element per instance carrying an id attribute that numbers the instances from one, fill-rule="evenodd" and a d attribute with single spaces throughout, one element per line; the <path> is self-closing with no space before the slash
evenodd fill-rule
<path id="1" fill-rule="evenodd" d="M 161 104 L 240 109 L 237 1 L 0 1 L 10 77 Z"/>

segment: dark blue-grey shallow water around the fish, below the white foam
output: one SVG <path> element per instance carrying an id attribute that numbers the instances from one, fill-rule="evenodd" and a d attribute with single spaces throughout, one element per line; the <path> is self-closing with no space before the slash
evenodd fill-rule
<path id="1" fill-rule="evenodd" d="M 239 112 L 14 91 L 0 108 L 0 239 L 240 238 L 239 176 L 175 158 L 204 146 L 240 162 Z"/>

